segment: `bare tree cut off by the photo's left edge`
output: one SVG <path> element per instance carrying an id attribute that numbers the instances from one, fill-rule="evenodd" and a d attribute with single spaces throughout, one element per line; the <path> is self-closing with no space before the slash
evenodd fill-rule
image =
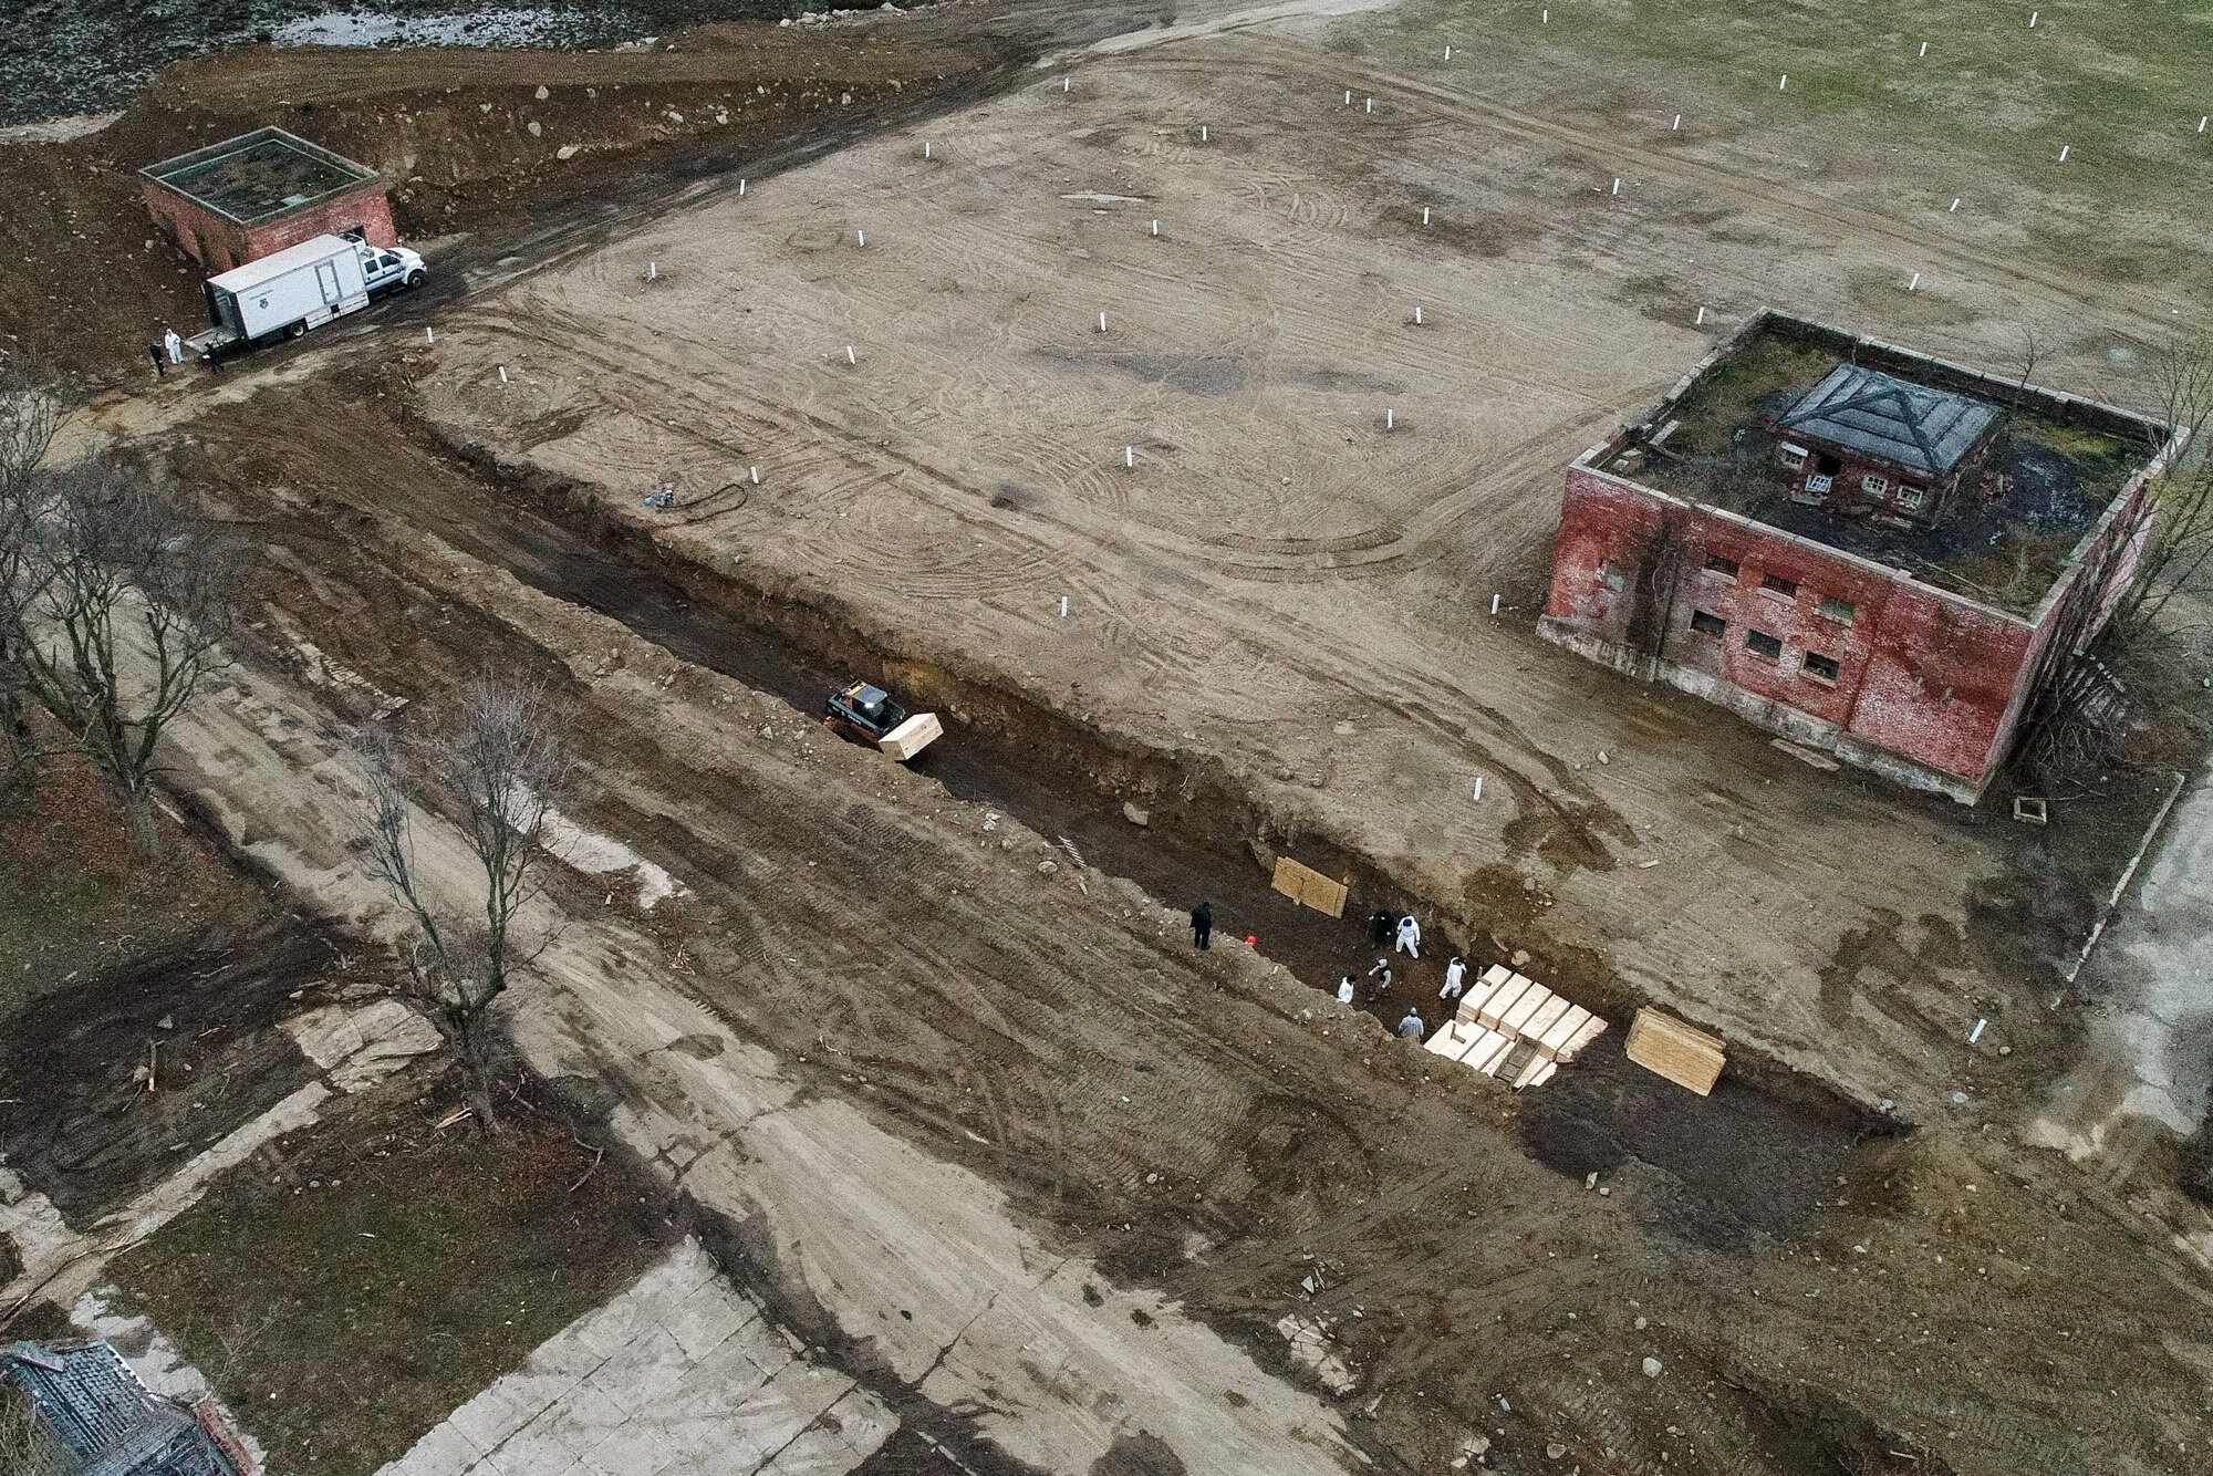
<path id="1" fill-rule="evenodd" d="M 27 615 L 46 586 L 33 544 L 49 522 L 53 487 L 40 462 L 66 420 L 69 403 L 51 376 L 0 358 L 0 783 L 29 777 L 38 757 L 22 664 Z"/>

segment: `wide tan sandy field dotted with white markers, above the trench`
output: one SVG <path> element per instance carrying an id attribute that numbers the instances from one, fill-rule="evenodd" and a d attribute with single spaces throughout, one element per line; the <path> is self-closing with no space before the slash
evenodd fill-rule
<path id="1" fill-rule="evenodd" d="M 1697 303 L 1706 332 L 1768 299 L 1930 343 L 1932 299 L 1863 301 L 1897 228 L 1720 144 L 1598 175 L 1478 71 L 1341 62 L 1414 20 L 1286 15 L 1102 42 L 1069 91 L 724 181 L 447 316 L 401 383 L 887 653 L 1219 757 L 1284 832 L 1556 978 L 1916 1118 L 2003 1082 L 2082 921 L 2007 836 L 1529 635 L 1560 467 L 1702 356 Z M 2058 290 L 1943 250 L 1974 277 L 1934 347 L 2003 361 Z M 2087 325 L 2060 365 L 2102 367 Z"/>

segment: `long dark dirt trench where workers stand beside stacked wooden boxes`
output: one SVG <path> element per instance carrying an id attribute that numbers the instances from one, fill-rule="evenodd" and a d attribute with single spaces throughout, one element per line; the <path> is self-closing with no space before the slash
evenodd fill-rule
<path id="1" fill-rule="evenodd" d="M 945 713 L 947 737 L 914 763 L 918 772 L 958 799 L 1060 839 L 1073 856 L 1164 903 L 1211 901 L 1222 947 L 1253 936 L 1261 954 L 1323 991 L 1352 974 L 1359 1007 L 1385 1029 L 1410 1007 L 1430 1029 L 1445 1018 L 1436 989 L 1454 949 L 1476 971 L 1516 963 L 1520 940 L 1505 932 L 1511 923 L 1463 929 L 1452 921 L 1458 909 L 1410 894 L 1370 859 L 1326 836 L 1288 834 L 1213 755 L 1111 744 L 1080 717 L 980 673 L 876 646 L 839 617 L 834 597 L 768 593 L 671 558 L 651 531 L 609 518 L 589 489 L 502 467 L 474 449 L 454 451 L 420 429 L 416 440 L 471 482 L 469 498 L 436 507 L 409 498 L 407 507 L 458 549 L 801 713 L 819 713 L 823 697 L 854 677 L 883 682 L 910 708 Z M 1146 823 L 1133 823 L 1124 805 L 1142 810 Z M 1270 874 L 1281 854 L 1343 881 L 1346 916 L 1277 894 Z M 1511 892 L 1520 896 L 1518 885 Z M 1394 956 L 1388 989 L 1368 978 L 1388 954 L 1370 934 L 1379 909 L 1434 918 L 1425 958 L 1410 965 Z M 1627 1060 L 1622 1038 L 1638 1000 L 1602 963 L 1527 954 L 1520 963 L 1615 1020 L 1573 1071 L 1516 1100 L 1525 1151 L 1573 1179 L 1649 1166 L 1655 1224 L 1666 1233 L 1715 1250 L 1788 1237 L 1861 1142 L 1901 1126 L 1744 1053 L 1711 1098 L 1693 1098 Z"/>

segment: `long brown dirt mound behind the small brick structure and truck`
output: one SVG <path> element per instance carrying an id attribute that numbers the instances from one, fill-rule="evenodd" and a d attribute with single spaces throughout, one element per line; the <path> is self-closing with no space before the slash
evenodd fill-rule
<path id="1" fill-rule="evenodd" d="M 18 352 L 111 383 L 153 376 L 146 343 L 206 319 L 204 272 L 155 228 L 137 170 L 261 126 L 372 164 L 401 235 L 511 232 L 640 173 L 739 170 L 794 135 L 837 135 L 958 86 L 972 49 L 706 27 L 657 51 L 241 46 L 179 62 L 113 124 L 0 144 L 0 321 Z M 436 261 L 436 257 L 434 257 Z M 122 383 L 137 383 L 124 378 Z"/>

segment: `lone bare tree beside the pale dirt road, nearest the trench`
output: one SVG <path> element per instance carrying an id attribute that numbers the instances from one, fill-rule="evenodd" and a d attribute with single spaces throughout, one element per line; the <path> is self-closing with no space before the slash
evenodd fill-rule
<path id="1" fill-rule="evenodd" d="M 491 1064 L 487 1011 L 542 947 L 518 943 L 516 918 L 538 894 L 547 814 L 571 783 L 564 748 L 544 688 L 491 671 L 463 686 L 454 710 L 418 741 L 403 748 L 385 728 L 356 741 L 370 775 L 361 848 L 412 921 L 401 945 L 405 991 L 432 1009 L 478 1087 Z M 474 859 L 467 885 L 482 894 L 480 912 L 456 909 L 423 874 L 407 770 L 454 819 Z M 478 1098 L 478 1113 L 489 1115 Z"/>

